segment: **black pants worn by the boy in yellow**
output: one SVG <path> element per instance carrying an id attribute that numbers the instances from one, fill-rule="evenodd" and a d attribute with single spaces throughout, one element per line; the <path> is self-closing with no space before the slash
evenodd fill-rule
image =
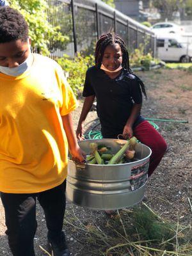
<path id="1" fill-rule="evenodd" d="M 34 256 L 36 198 L 45 212 L 48 236 L 56 239 L 63 228 L 66 180 L 60 186 L 40 193 L 1 193 L 6 220 L 6 234 L 13 256 Z"/>

